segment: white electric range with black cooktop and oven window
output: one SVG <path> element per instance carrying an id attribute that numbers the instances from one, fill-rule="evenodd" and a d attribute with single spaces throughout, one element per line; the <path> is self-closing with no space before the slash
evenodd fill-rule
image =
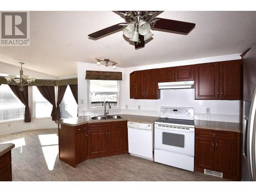
<path id="1" fill-rule="evenodd" d="M 161 106 L 154 137 L 154 161 L 194 171 L 193 108 Z"/>

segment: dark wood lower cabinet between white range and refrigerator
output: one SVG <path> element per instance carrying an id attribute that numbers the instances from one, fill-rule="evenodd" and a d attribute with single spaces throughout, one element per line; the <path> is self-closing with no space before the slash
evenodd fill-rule
<path id="1" fill-rule="evenodd" d="M 195 170 L 223 173 L 223 178 L 240 181 L 241 134 L 196 129 Z"/>

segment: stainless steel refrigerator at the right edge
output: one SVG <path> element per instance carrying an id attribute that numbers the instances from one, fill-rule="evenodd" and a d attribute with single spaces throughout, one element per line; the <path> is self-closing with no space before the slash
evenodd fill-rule
<path id="1" fill-rule="evenodd" d="M 243 57 L 242 181 L 256 181 L 256 46 Z"/>

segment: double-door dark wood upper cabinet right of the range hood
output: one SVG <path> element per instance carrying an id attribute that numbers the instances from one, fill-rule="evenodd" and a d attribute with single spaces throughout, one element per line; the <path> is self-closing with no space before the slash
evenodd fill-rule
<path id="1" fill-rule="evenodd" d="M 241 100 L 242 60 L 195 65 L 195 99 Z"/>

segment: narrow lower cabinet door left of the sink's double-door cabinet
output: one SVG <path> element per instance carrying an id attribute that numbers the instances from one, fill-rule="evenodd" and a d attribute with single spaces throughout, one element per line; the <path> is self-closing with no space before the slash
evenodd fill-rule
<path id="1" fill-rule="evenodd" d="M 87 133 L 76 134 L 76 163 L 81 163 L 87 158 Z"/>

